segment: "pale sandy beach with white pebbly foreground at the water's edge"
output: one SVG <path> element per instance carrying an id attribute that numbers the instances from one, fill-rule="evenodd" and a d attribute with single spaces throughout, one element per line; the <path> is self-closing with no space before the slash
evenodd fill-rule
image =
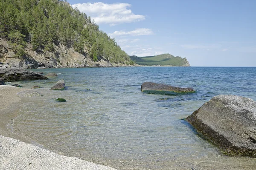
<path id="1" fill-rule="evenodd" d="M 0 86 L 0 170 L 115 170 L 44 150 L 29 144 L 27 137 L 13 133 L 9 124 L 12 124 L 21 104 L 16 93 L 25 90 L 29 89 Z"/>

